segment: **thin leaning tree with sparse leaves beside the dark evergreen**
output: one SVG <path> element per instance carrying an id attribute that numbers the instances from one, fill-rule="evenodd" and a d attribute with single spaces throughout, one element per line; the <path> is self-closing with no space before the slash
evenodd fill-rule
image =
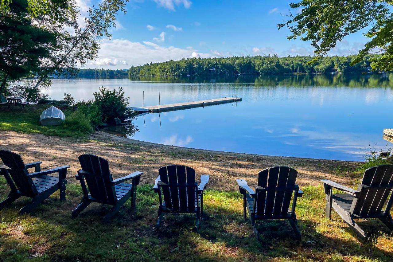
<path id="1" fill-rule="evenodd" d="M 128 0 L 103 0 L 97 7 L 93 6 L 84 18 L 84 24 L 79 25 L 75 15 L 70 15 L 66 20 L 57 24 L 52 17 L 43 16 L 42 25 L 54 33 L 61 32 L 57 38 L 58 48 L 53 50 L 50 59 L 44 61 L 44 69 L 40 72 L 35 87 L 45 81 L 50 81 L 53 75 L 76 76 L 79 65 L 84 65 L 88 60 L 97 58 L 99 50 L 98 41 L 110 38 L 109 29 L 116 27 L 116 15 L 119 11 L 125 13 L 125 3 Z M 75 11 L 75 6 L 73 7 Z M 72 30 L 64 32 L 64 25 Z"/>

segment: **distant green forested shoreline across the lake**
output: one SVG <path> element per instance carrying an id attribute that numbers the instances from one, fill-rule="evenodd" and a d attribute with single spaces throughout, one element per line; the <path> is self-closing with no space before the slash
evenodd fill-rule
<path id="1" fill-rule="evenodd" d="M 94 76 L 208 76 L 225 74 L 278 75 L 278 74 L 329 74 L 368 73 L 370 63 L 379 55 L 367 55 L 361 62 L 351 66 L 356 55 L 323 57 L 309 63 L 311 56 L 244 56 L 220 58 L 183 58 L 179 61 L 147 63 L 130 69 L 79 69 L 78 77 Z M 379 70 L 374 71 L 378 72 Z"/>

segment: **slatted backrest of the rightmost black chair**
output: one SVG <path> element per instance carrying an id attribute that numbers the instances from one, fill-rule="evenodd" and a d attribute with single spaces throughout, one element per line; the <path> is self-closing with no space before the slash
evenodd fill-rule
<path id="1" fill-rule="evenodd" d="M 360 191 L 349 212 L 358 216 L 373 216 L 382 211 L 393 188 L 393 165 L 374 166 L 364 172 L 358 186 Z M 390 201 L 389 201 L 390 202 Z M 386 207 L 390 210 L 390 207 Z"/>

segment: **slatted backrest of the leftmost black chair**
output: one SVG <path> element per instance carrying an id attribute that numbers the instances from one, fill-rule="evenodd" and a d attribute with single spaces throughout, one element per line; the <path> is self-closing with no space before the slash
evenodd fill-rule
<path id="1" fill-rule="evenodd" d="M 11 168 L 8 173 L 22 195 L 33 197 L 38 194 L 33 181 L 26 176 L 29 171 L 20 155 L 8 150 L 0 150 L 0 158 L 7 167 Z"/>

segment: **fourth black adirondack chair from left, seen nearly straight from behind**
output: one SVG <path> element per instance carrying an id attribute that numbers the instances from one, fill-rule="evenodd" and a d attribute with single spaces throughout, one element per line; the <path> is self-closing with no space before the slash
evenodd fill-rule
<path id="1" fill-rule="evenodd" d="M 300 239 L 295 207 L 298 197 L 303 196 L 299 186 L 295 184 L 298 171 L 287 166 L 266 168 L 258 173 L 258 185 L 255 192 L 244 179 L 236 179 L 239 191 L 243 195 L 243 216 L 250 215 L 251 225 L 255 236 L 259 240 L 259 232 L 255 227 L 255 220 L 288 219 L 295 233 Z M 293 195 L 293 199 L 292 199 Z M 292 199 L 292 208 L 288 210 Z"/>

